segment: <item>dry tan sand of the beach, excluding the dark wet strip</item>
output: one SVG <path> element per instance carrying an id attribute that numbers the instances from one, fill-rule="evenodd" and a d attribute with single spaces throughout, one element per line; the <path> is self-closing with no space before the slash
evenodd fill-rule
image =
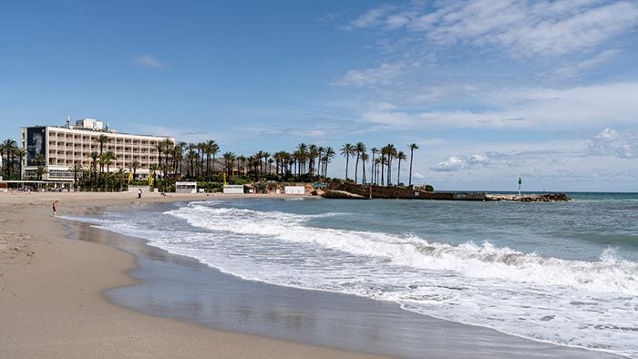
<path id="1" fill-rule="evenodd" d="M 207 198 L 145 193 L 141 201 Z M 53 200 L 59 200 L 59 214 L 139 202 L 134 193 L 0 193 L 2 357 L 370 356 L 216 331 L 109 303 L 106 289 L 135 282 L 127 274 L 134 257 L 68 240 L 62 221 L 52 216 Z"/>

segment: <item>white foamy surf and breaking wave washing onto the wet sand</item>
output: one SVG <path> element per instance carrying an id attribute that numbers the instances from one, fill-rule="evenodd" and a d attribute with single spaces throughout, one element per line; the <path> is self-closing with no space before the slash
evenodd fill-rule
<path id="1" fill-rule="evenodd" d="M 504 333 L 638 357 L 638 264 L 611 249 L 597 262 L 568 261 L 489 242 L 310 227 L 310 219 L 339 213 L 223 202 L 193 202 L 164 215 L 192 227 L 141 227 L 130 216 L 95 224 L 246 279 L 393 301 Z"/>

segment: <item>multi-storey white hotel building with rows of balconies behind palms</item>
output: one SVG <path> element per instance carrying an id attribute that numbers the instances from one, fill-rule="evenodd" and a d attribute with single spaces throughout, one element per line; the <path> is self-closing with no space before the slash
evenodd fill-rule
<path id="1" fill-rule="evenodd" d="M 104 128 L 103 123 L 96 119 L 83 118 L 71 126 L 69 118 L 65 127 L 34 126 L 20 128 L 20 142 L 26 149 L 23 159 L 23 179 L 36 177 L 38 164 L 36 158 L 43 156 L 45 173 L 43 180 L 73 182 L 72 168 L 78 164 L 85 169 L 91 166 L 91 152 L 99 153 L 98 138 L 106 135 L 111 140 L 103 146 L 103 153 L 111 151 L 116 159 L 109 167 L 110 171 L 118 169 L 130 170 L 134 161 L 139 162 L 136 175 L 148 178 L 150 168 L 159 165 L 160 156 L 158 143 L 169 139 L 173 144 L 175 138 L 131 135 L 118 133 Z"/>

